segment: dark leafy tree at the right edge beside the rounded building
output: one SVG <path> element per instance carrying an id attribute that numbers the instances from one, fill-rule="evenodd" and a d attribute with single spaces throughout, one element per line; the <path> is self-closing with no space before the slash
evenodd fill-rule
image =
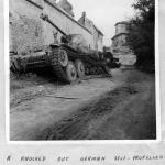
<path id="1" fill-rule="evenodd" d="M 132 7 L 138 13 L 130 20 L 128 43 L 138 56 L 136 66 L 154 68 L 155 1 L 136 0 Z"/>

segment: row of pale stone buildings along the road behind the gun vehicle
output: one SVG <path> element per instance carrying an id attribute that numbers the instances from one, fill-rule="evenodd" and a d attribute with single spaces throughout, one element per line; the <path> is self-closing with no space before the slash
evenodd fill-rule
<path id="1" fill-rule="evenodd" d="M 94 25 L 92 21 L 85 16 L 85 13 L 79 22 L 76 21 L 73 6 L 68 0 L 58 0 L 58 2 L 56 0 L 9 1 L 10 52 L 25 55 L 33 51 L 45 50 L 55 42 L 55 37 L 61 42 L 62 33 L 43 21 L 42 13 L 46 13 L 53 23 L 66 34 L 79 35 L 79 38 L 82 36 L 84 41 L 80 42 L 85 43 L 87 51 L 90 47 L 90 51 L 102 52 L 103 34 Z"/>

